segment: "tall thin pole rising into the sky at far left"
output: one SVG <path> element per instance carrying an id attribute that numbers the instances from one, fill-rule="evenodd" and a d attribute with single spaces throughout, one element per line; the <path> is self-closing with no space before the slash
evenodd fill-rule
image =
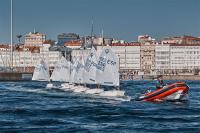
<path id="1" fill-rule="evenodd" d="M 11 18 L 10 18 L 10 44 L 11 44 L 11 49 L 10 49 L 10 61 L 11 61 L 11 70 L 13 71 L 13 0 L 11 0 Z"/>

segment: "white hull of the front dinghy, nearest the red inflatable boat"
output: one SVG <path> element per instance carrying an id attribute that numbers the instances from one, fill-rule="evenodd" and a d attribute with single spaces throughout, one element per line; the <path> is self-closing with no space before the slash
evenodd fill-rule
<path id="1" fill-rule="evenodd" d="M 125 92 L 121 90 L 110 90 L 110 91 L 103 91 L 99 95 L 104 97 L 123 97 L 124 93 Z"/>

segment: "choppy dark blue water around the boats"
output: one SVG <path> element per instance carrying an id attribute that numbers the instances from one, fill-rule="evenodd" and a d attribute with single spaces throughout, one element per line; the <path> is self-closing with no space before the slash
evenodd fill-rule
<path id="1" fill-rule="evenodd" d="M 200 132 L 200 82 L 187 84 L 187 103 L 145 103 L 0 82 L 0 132 Z M 134 98 L 154 83 L 124 81 L 122 88 Z"/>

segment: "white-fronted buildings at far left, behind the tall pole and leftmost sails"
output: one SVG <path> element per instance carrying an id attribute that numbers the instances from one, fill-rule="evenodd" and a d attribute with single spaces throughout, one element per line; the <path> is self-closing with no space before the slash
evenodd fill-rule
<path id="1" fill-rule="evenodd" d="M 61 52 L 49 51 L 44 47 L 40 47 L 40 52 L 25 49 L 13 52 L 14 67 L 34 67 L 41 59 L 45 60 L 49 67 L 53 67 L 62 56 Z M 0 67 L 9 67 L 10 65 L 10 52 L 0 51 Z"/>

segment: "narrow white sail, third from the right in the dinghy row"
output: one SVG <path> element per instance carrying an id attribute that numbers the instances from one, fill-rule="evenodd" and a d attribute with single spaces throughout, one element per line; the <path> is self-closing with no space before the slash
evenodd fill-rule
<path id="1" fill-rule="evenodd" d="M 84 58 L 83 58 L 83 56 L 80 56 L 77 67 L 76 67 L 74 82 L 78 83 L 78 84 L 84 83 L 83 82 L 83 74 L 84 74 Z"/>

